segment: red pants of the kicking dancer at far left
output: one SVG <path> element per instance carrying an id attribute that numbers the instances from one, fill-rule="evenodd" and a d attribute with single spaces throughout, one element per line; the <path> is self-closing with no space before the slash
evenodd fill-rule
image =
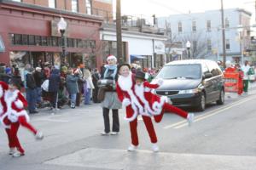
<path id="1" fill-rule="evenodd" d="M 20 151 L 20 153 L 24 153 L 25 150 L 23 150 L 23 148 L 20 145 L 20 141 L 18 139 L 17 133 L 19 130 L 19 127 L 23 126 L 26 127 L 27 129 L 29 129 L 32 133 L 36 134 L 37 130 L 32 127 L 31 124 L 29 124 L 28 122 L 26 122 L 26 117 L 25 116 L 20 116 L 18 119 L 18 122 L 12 122 L 10 125 L 10 129 L 6 129 L 6 133 L 9 139 L 9 147 L 10 148 L 17 148 L 17 150 Z"/>

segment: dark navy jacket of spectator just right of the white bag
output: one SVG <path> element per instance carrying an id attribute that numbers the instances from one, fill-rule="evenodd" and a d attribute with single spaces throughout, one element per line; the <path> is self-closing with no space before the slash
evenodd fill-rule
<path id="1" fill-rule="evenodd" d="M 49 92 L 58 92 L 60 88 L 60 71 L 54 69 L 51 74 L 49 75 Z"/>

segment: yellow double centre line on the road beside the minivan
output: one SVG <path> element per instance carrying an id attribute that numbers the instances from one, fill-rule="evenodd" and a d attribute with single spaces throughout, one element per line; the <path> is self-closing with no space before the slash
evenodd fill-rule
<path id="1" fill-rule="evenodd" d="M 247 102 L 248 100 L 251 100 L 251 99 L 256 99 L 256 97 L 254 96 L 253 98 L 242 99 L 242 100 L 240 100 L 240 101 L 237 101 L 237 102 L 234 103 L 234 104 L 227 105 L 227 106 L 225 106 L 224 108 L 218 108 L 218 109 L 216 109 L 216 110 L 209 111 L 209 112 L 207 112 L 206 114 L 203 114 L 203 115 L 200 115 L 200 116 L 195 116 L 194 122 L 199 122 L 199 121 L 201 121 L 201 120 L 207 119 L 207 118 L 210 117 L 210 116 L 217 115 L 217 114 L 219 114 L 219 113 L 221 113 L 221 112 L 223 112 L 223 111 L 226 111 L 226 110 L 230 109 L 231 107 L 234 107 L 234 106 L 236 106 L 236 105 L 241 105 L 241 104 L 243 104 L 243 103 L 245 103 L 245 102 Z M 168 129 L 168 128 L 173 127 L 173 128 L 175 128 L 175 129 L 177 129 L 177 128 L 181 128 L 181 127 L 185 127 L 185 126 L 188 126 L 188 123 L 187 123 L 187 121 L 183 120 L 183 121 L 181 121 L 181 122 L 177 122 L 177 123 L 174 123 L 174 124 L 172 124 L 172 125 L 168 125 L 168 126 L 163 127 L 163 128 L 164 128 L 164 129 Z"/>

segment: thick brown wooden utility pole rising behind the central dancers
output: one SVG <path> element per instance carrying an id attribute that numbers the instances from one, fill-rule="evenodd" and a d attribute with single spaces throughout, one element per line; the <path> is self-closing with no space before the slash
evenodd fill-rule
<path id="1" fill-rule="evenodd" d="M 122 26 L 121 26 L 121 0 L 116 0 L 116 39 L 117 39 L 117 58 L 119 64 L 125 62 L 123 56 L 123 43 L 122 43 Z"/>

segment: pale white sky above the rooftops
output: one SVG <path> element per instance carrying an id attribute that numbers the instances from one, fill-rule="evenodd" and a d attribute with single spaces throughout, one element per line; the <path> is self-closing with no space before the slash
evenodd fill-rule
<path id="1" fill-rule="evenodd" d="M 188 14 L 204 12 L 206 10 L 220 9 L 221 0 L 120 0 L 121 13 L 137 16 L 156 17 L 170 14 Z M 113 0 L 113 11 L 115 12 Z M 253 14 L 254 20 L 255 0 L 223 0 L 224 8 L 244 8 Z"/>

